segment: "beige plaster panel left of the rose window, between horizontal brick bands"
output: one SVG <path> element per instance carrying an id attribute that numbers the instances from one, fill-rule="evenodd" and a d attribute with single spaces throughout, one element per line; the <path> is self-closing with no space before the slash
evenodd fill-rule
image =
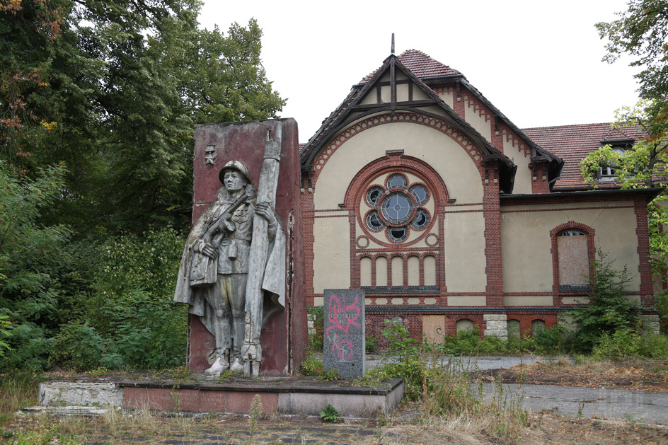
<path id="1" fill-rule="evenodd" d="M 322 294 L 324 289 L 347 289 L 350 287 L 350 247 L 341 243 L 340 233 L 350 233 L 350 224 L 345 218 L 316 218 L 313 233 L 313 289 Z"/>

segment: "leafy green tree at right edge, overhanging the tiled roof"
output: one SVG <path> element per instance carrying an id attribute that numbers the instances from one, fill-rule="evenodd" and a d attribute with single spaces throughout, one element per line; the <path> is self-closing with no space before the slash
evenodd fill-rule
<path id="1" fill-rule="evenodd" d="M 668 163 L 668 1 L 630 0 L 628 10 L 617 16 L 596 25 L 599 36 L 608 40 L 604 60 L 613 63 L 628 54 L 633 57 L 630 65 L 642 70 L 635 75 L 640 101 L 618 110 L 613 127 L 640 129 L 642 137 L 624 154 L 601 147 L 582 160 L 580 169 L 588 182 L 594 181 L 600 167 L 612 166 L 624 188 L 663 187 Z M 662 231 L 668 224 L 663 203 L 667 199 L 664 192 L 648 207 L 655 272 L 665 271 L 668 261 L 668 240 Z"/>

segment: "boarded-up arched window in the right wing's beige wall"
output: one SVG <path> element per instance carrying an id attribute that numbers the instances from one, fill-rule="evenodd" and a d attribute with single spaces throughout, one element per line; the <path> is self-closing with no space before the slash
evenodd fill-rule
<path id="1" fill-rule="evenodd" d="M 559 284 L 587 284 L 589 279 L 589 253 L 587 235 L 577 230 L 567 230 L 557 236 L 559 253 Z"/>

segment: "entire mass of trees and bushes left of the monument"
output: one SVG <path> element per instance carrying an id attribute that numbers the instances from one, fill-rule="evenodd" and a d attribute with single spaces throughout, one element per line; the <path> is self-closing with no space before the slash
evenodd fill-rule
<path id="1" fill-rule="evenodd" d="M 171 298 L 192 127 L 284 105 L 258 23 L 224 35 L 200 29 L 199 11 L 0 6 L 0 368 L 183 363 L 187 313 Z"/>

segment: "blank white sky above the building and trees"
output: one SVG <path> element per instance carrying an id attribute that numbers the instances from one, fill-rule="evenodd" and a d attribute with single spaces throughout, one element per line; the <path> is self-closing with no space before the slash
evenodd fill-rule
<path id="1" fill-rule="evenodd" d="M 638 88 L 629 59 L 601 62 L 594 23 L 626 0 L 205 0 L 200 23 L 263 29 L 263 65 L 306 142 L 347 96 L 396 54 L 415 49 L 460 71 L 520 128 L 614 120 Z"/>

